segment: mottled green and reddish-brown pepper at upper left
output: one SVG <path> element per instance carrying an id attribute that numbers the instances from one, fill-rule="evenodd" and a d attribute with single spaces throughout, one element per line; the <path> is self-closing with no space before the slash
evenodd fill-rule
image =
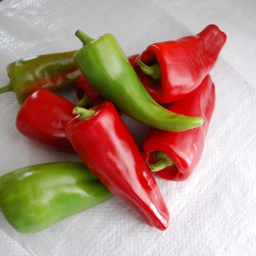
<path id="1" fill-rule="evenodd" d="M 75 52 L 51 53 L 12 62 L 7 66 L 10 83 L 0 88 L 0 94 L 14 91 L 22 105 L 26 97 L 39 89 L 56 91 L 75 84 L 80 75 L 73 60 Z"/>

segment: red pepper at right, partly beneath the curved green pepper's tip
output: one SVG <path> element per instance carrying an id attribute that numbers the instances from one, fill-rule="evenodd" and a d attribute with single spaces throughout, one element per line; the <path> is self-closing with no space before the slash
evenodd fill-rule
<path id="1" fill-rule="evenodd" d="M 148 129 L 141 146 L 146 162 L 157 176 L 170 181 L 184 181 L 189 178 L 203 154 L 214 106 L 215 86 L 210 75 L 207 75 L 197 89 L 168 107 L 184 115 L 203 116 L 205 122 L 201 127 L 184 132 Z M 156 159 L 156 153 L 164 153 L 164 157 L 160 154 L 159 159 Z M 170 162 L 170 166 L 165 165 L 166 160 Z"/>

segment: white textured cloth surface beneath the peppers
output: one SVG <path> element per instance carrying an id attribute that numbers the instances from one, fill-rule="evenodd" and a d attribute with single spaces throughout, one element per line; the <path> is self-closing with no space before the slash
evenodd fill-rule
<path id="1" fill-rule="evenodd" d="M 0 255 L 256 255 L 256 2 L 0 1 L 0 81 L 12 61 L 80 48 L 75 31 L 116 36 L 127 56 L 152 42 L 197 34 L 214 23 L 227 42 L 211 72 L 217 104 L 203 157 L 182 183 L 157 182 L 170 227 L 145 225 L 118 198 L 40 233 L 17 233 L 0 213 Z M 73 91 L 62 95 L 76 102 Z M 20 135 L 15 94 L 0 94 L 0 175 L 26 165 L 79 161 Z M 136 139 L 143 129 L 126 120 Z"/>

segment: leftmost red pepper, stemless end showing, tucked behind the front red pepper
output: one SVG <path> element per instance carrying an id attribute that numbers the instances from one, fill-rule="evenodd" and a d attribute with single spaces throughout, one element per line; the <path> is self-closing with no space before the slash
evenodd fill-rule
<path id="1" fill-rule="evenodd" d="M 74 118 L 75 105 L 64 97 L 40 89 L 26 98 L 18 111 L 16 127 L 41 146 L 75 152 L 64 132 L 64 125 Z"/>

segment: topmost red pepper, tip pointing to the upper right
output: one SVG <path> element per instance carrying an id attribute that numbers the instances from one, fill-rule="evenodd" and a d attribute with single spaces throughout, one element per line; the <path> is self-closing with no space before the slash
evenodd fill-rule
<path id="1" fill-rule="evenodd" d="M 211 72 L 226 39 L 217 26 L 209 25 L 195 36 L 149 45 L 133 67 L 156 102 L 174 102 L 196 89 Z"/>

